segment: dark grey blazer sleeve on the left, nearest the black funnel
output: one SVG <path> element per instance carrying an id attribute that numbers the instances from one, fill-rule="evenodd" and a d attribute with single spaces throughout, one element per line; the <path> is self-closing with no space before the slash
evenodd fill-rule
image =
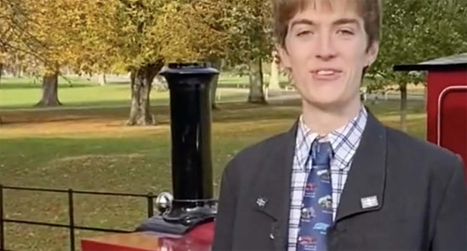
<path id="1" fill-rule="evenodd" d="M 213 251 L 232 250 L 232 233 L 237 207 L 236 181 L 232 175 L 234 160 L 225 168 L 222 174 L 219 201 L 217 206 L 216 227 L 214 232 Z"/>

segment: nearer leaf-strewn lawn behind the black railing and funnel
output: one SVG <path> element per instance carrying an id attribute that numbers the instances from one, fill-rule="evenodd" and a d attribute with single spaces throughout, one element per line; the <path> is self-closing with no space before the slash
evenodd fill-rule
<path id="1" fill-rule="evenodd" d="M 385 124 L 398 127 L 398 102 L 368 104 Z M 0 183 L 158 194 L 171 190 L 167 107 L 154 107 L 159 125 L 126 127 L 127 108 L 2 111 Z M 296 101 L 274 105 L 222 104 L 213 115 L 215 194 L 225 164 L 242 148 L 288 130 L 299 115 Z M 425 135 L 423 103 L 409 102 L 409 130 Z M 67 197 L 4 191 L 7 218 L 68 223 Z M 133 230 L 146 215 L 144 199 L 75 196 L 78 225 Z M 67 250 L 67 229 L 6 223 L 6 249 Z M 83 236 L 99 232 L 78 231 Z M 79 241 L 76 241 L 76 245 Z M 78 247 L 78 246 L 77 246 Z"/>

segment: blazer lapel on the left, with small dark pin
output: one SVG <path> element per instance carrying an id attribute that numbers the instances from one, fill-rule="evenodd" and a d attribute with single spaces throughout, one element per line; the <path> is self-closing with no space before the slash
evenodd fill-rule
<path id="1" fill-rule="evenodd" d="M 271 217 L 270 238 L 276 250 L 287 248 L 290 179 L 295 154 L 295 135 L 298 122 L 276 141 L 261 163 L 253 207 Z"/>

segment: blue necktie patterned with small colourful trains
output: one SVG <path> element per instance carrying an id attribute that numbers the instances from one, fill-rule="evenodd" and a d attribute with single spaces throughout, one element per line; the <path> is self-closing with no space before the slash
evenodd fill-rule
<path id="1" fill-rule="evenodd" d="M 326 230 L 332 224 L 332 186 L 330 160 L 332 147 L 329 142 L 311 144 L 308 161 L 312 168 L 306 180 L 302 202 L 297 251 L 325 251 Z M 305 164 L 305 166 L 307 165 Z"/>

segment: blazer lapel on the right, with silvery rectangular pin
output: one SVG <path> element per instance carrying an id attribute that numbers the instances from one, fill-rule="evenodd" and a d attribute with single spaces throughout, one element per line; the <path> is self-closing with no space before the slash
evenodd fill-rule
<path id="1" fill-rule="evenodd" d="M 342 191 L 336 222 L 378 210 L 384 202 L 386 129 L 368 112 L 368 120 Z"/>

